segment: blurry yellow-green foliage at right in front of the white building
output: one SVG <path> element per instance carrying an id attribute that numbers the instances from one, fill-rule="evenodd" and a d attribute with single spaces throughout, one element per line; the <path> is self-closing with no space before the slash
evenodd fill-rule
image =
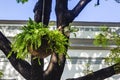
<path id="1" fill-rule="evenodd" d="M 102 47 L 110 47 L 114 44 L 115 47 L 110 49 L 110 54 L 105 60 L 111 65 L 120 63 L 120 34 L 106 26 L 102 28 L 102 31 L 95 37 L 94 44 Z"/>

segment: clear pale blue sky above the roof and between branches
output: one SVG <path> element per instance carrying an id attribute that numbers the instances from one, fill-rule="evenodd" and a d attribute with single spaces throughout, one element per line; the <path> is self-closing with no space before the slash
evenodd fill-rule
<path id="1" fill-rule="evenodd" d="M 72 9 L 79 0 L 69 0 L 68 8 Z M 18 4 L 16 0 L 0 0 L 0 20 L 28 20 L 33 19 L 33 8 L 37 0 L 29 0 L 25 4 Z M 120 4 L 115 0 L 100 0 L 100 5 L 95 7 L 97 0 L 92 0 L 74 21 L 120 22 Z M 52 4 L 50 20 L 56 20 L 55 0 Z"/>

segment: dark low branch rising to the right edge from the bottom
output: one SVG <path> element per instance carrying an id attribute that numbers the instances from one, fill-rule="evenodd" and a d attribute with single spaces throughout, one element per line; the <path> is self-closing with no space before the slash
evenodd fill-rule
<path id="1" fill-rule="evenodd" d="M 98 70 L 96 72 L 93 72 L 91 74 L 88 74 L 83 77 L 78 77 L 78 78 L 71 78 L 67 80 L 103 80 L 105 78 L 111 77 L 115 74 L 120 73 L 120 69 L 116 70 L 116 68 L 120 68 L 120 63 L 112 65 L 107 68 L 103 68 L 101 70 Z"/>

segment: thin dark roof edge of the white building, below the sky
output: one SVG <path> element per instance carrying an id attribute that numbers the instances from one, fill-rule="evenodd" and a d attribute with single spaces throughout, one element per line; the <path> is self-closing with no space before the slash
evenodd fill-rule
<path id="1" fill-rule="evenodd" d="M 26 24 L 28 20 L 0 20 L 0 24 Z M 50 21 L 56 24 L 56 21 Z M 120 26 L 120 22 L 89 22 L 89 21 L 73 21 L 71 25 L 75 26 Z"/>

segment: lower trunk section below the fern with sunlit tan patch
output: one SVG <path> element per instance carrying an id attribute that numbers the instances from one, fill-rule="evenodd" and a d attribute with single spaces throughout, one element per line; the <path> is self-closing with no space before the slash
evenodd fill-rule
<path id="1" fill-rule="evenodd" d="M 60 80 L 64 70 L 65 61 L 65 55 L 53 53 L 48 68 L 44 73 L 45 80 Z"/>

